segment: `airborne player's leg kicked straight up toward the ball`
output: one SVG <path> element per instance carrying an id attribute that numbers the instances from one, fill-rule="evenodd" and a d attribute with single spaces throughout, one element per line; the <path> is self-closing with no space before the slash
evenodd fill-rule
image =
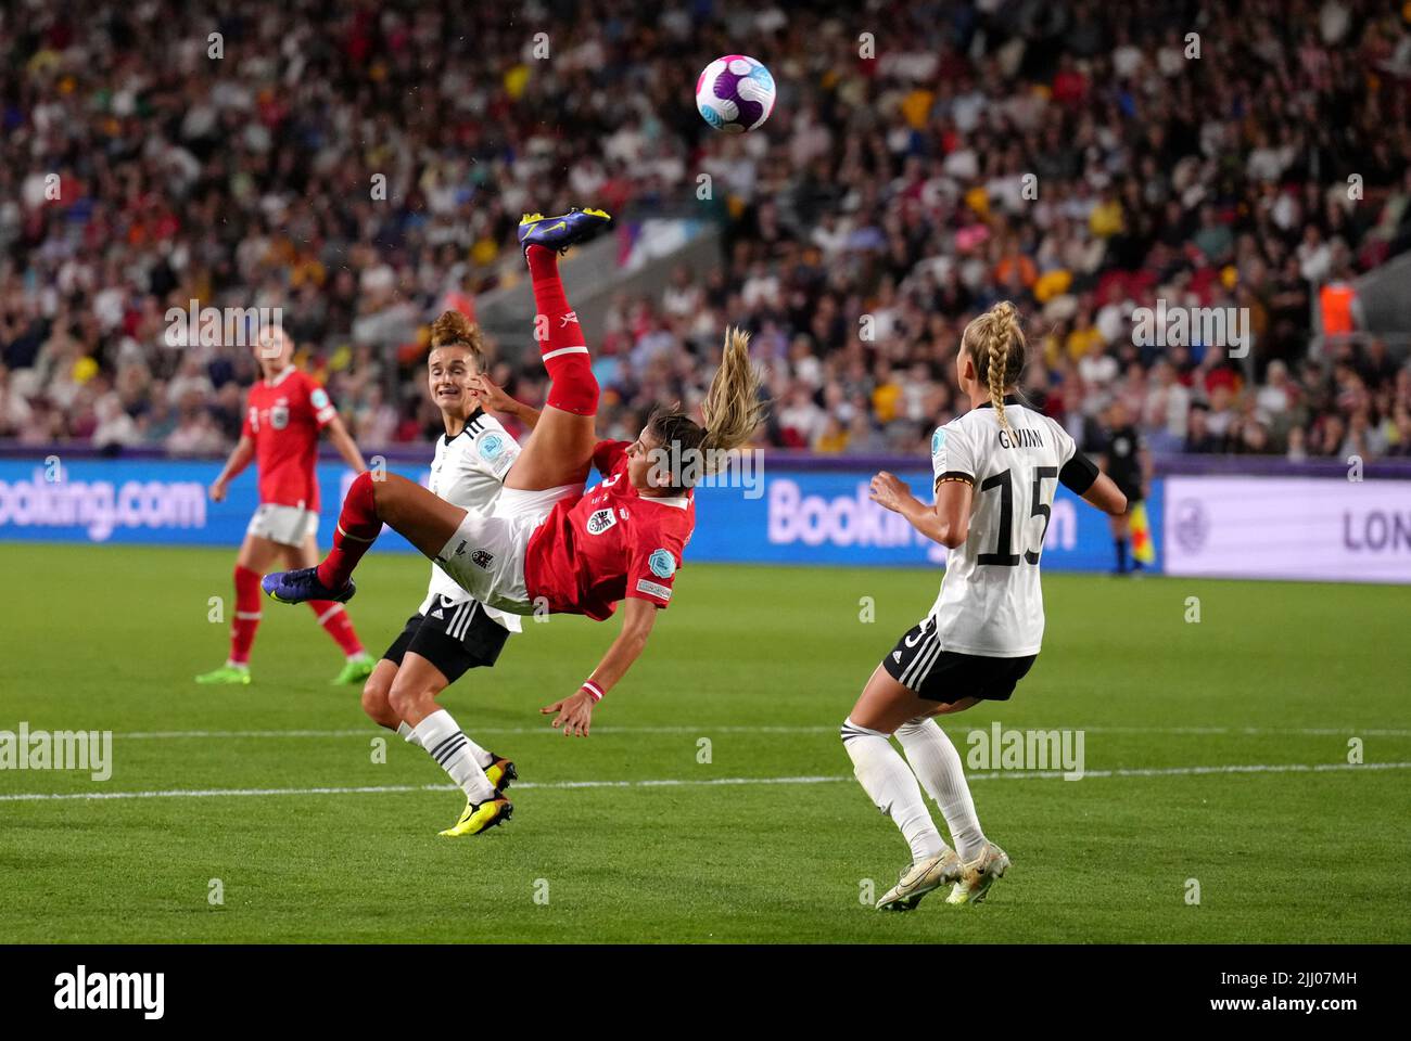
<path id="1" fill-rule="evenodd" d="M 545 491 L 579 484 L 588 475 L 597 443 L 598 381 L 579 316 L 559 278 L 557 252 L 608 223 L 601 210 L 559 217 L 526 214 L 519 241 L 535 299 L 535 340 L 549 372 L 549 396 L 539 423 L 505 478 L 507 488 Z"/>

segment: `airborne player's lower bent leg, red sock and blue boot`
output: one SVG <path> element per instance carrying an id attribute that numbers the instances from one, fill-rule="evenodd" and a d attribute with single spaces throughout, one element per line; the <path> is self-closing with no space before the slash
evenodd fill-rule
<path id="1" fill-rule="evenodd" d="M 466 519 L 466 511 L 432 495 L 415 481 L 396 474 L 374 478 L 358 474 L 339 513 L 333 549 L 317 567 L 267 574 L 260 585 L 281 604 L 329 599 L 346 604 L 357 585 L 353 568 L 363 559 L 385 523 L 432 560 Z"/>

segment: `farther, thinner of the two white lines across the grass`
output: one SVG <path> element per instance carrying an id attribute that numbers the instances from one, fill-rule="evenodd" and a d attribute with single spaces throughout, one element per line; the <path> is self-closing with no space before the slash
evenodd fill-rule
<path id="1" fill-rule="evenodd" d="M 952 724 L 944 729 L 952 733 L 968 733 L 969 731 L 989 732 L 986 725 L 961 726 Z M 1384 729 L 1356 726 L 1030 726 L 1034 731 L 1082 731 L 1085 733 L 1167 733 L 1167 735 L 1235 735 L 1235 736 L 1302 736 L 1302 738 L 1411 738 L 1411 729 Z M 560 732 L 547 726 L 476 726 L 476 733 L 494 735 L 545 735 L 560 736 Z M 837 726 L 595 726 L 594 733 L 837 733 Z M 388 736 L 391 731 L 363 726 L 357 729 L 337 731 L 133 731 L 119 732 L 114 738 L 128 741 L 234 741 L 247 738 L 375 738 Z"/>

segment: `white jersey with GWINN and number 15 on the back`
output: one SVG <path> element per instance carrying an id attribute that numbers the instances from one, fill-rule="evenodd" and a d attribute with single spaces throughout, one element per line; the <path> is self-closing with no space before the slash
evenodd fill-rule
<path id="1" fill-rule="evenodd" d="M 943 650 L 989 657 L 1037 655 L 1044 639 L 1038 554 L 1058 489 L 1058 471 L 1077 446 L 1048 416 L 1005 399 L 1000 427 L 982 405 L 931 437 L 934 489 L 968 481 L 969 537 L 945 559 L 945 578 L 928 618 Z"/>

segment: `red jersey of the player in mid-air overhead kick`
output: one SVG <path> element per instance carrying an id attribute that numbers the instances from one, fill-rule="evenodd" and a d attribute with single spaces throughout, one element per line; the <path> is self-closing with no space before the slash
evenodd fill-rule
<path id="1" fill-rule="evenodd" d="M 593 464 L 607 477 L 553 508 L 525 552 L 525 587 L 555 612 L 611 616 L 636 597 L 665 608 L 696 529 L 696 499 L 648 498 L 626 474 L 629 442 L 598 442 Z"/>

